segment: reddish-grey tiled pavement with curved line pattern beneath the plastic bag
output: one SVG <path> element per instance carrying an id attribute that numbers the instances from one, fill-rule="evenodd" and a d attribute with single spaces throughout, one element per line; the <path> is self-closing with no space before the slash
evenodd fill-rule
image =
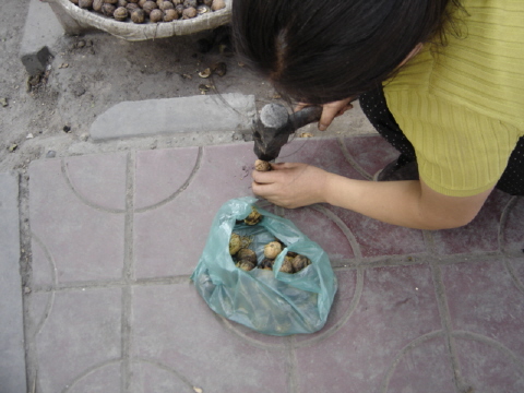
<path id="1" fill-rule="evenodd" d="M 325 327 L 274 337 L 214 314 L 189 276 L 218 207 L 251 194 L 251 150 L 32 163 L 36 392 L 524 392 L 523 198 L 493 192 L 472 224 L 441 231 L 274 209 L 330 254 Z M 281 157 L 370 178 L 394 155 L 367 135 L 297 140 Z"/>

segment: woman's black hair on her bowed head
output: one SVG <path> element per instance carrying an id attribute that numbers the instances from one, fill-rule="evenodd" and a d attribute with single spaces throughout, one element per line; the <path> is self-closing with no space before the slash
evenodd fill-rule
<path id="1" fill-rule="evenodd" d="M 358 96 L 418 43 L 444 36 L 458 0 L 234 0 L 241 60 L 309 104 Z M 436 38 L 437 37 L 437 38 Z"/>

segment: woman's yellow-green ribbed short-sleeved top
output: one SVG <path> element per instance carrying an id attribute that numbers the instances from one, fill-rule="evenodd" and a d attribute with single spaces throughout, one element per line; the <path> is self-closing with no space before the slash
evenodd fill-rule
<path id="1" fill-rule="evenodd" d="M 524 0 L 463 4 L 461 35 L 426 45 L 384 84 L 420 178 L 452 196 L 493 187 L 524 135 Z"/>

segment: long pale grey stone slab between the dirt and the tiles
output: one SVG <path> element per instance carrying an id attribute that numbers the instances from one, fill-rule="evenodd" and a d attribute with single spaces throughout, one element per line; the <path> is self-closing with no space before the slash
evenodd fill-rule
<path id="1" fill-rule="evenodd" d="M 93 141 L 181 132 L 250 130 L 257 116 L 253 95 L 237 93 L 123 102 L 90 129 Z"/>

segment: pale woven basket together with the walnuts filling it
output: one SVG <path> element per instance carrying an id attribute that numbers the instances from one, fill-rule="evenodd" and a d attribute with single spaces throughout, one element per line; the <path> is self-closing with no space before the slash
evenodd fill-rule
<path id="1" fill-rule="evenodd" d="M 127 40 L 165 38 L 212 29 L 229 23 L 231 15 L 231 0 L 48 1 L 59 17 L 60 14 L 67 15 L 81 27 L 95 27 Z"/>

